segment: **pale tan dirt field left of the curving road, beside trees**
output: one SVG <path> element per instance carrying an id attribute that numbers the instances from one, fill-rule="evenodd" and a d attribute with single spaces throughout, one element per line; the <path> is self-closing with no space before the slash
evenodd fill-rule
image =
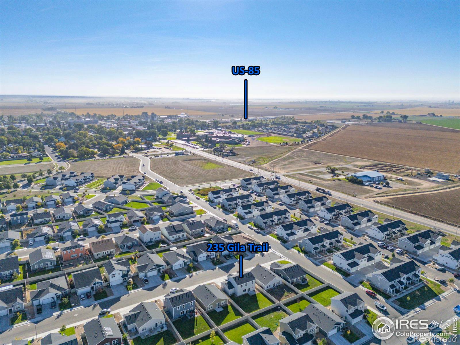
<path id="1" fill-rule="evenodd" d="M 112 158 L 70 163 L 69 171 L 77 173 L 91 172 L 98 177 L 112 175 L 134 175 L 139 173 L 137 158 Z"/>

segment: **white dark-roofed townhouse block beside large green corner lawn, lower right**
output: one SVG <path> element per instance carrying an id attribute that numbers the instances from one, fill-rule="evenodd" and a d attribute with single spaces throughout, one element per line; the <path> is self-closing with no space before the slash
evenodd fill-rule
<path id="1" fill-rule="evenodd" d="M 386 293 L 399 293 L 420 281 L 420 266 L 410 260 L 366 275 L 366 280 Z"/>

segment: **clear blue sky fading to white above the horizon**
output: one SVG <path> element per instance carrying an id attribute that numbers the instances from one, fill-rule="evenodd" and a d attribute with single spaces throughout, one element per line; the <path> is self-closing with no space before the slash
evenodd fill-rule
<path id="1" fill-rule="evenodd" d="M 459 99 L 459 1 L 6 1 L 0 93 Z"/>

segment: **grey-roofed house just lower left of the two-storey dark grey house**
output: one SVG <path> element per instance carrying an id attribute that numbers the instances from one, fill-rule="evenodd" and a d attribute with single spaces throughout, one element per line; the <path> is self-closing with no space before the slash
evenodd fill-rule
<path id="1" fill-rule="evenodd" d="M 166 329 L 165 316 L 155 302 L 142 302 L 123 315 L 127 329 L 135 334 Z"/>

